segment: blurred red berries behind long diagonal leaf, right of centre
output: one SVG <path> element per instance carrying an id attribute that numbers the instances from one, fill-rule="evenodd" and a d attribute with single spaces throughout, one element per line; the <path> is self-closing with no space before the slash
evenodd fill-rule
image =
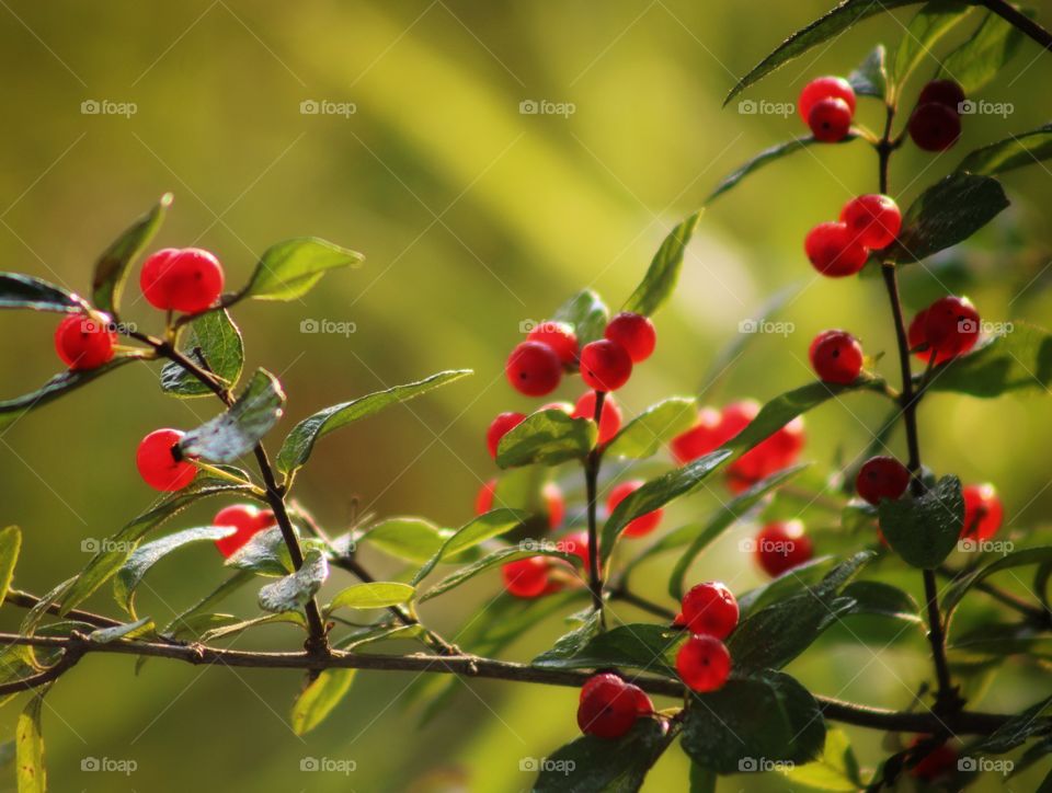
<path id="1" fill-rule="evenodd" d="M 759 413 L 753 400 L 732 402 L 722 411 L 702 407 L 695 425 L 673 438 L 671 450 L 679 464 L 714 451 L 741 433 Z M 776 471 L 792 466 L 803 450 L 803 418 L 797 417 L 732 462 L 727 483 L 732 493 L 741 493 Z"/>

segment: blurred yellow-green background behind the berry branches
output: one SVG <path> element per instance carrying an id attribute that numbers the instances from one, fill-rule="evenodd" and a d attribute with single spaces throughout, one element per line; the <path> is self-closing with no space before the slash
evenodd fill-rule
<path id="1" fill-rule="evenodd" d="M 666 231 L 722 174 L 802 131 L 791 114 L 743 113 L 736 102 L 721 110 L 721 102 L 735 76 L 828 5 L 7 0 L 2 267 L 85 290 L 98 253 L 165 191 L 175 204 L 158 245 L 216 251 L 231 285 L 287 237 L 317 234 L 364 252 L 362 269 L 330 275 L 301 302 L 239 308 L 249 364 L 283 379 L 286 428 L 333 402 L 444 368 L 474 369 L 470 380 L 333 436 L 297 482 L 297 495 L 333 531 L 364 513 L 420 514 L 457 526 L 493 473 L 482 443 L 490 418 L 529 406 L 502 375 L 519 324 L 544 319 L 583 286 L 618 306 Z M 746 96 L 793 102 L 809 78 L 846 73 L 878 41 L 893 45 L 902 16 L 860 25 Z M 922 71 L 933 69 L 934 61 Z M 905 147 L 892 174 L 900 204 L 965 151 L 1045 120 L 1050 72 L 1052 60 L 1024 44 L 984 92 L 1011 103 L 1010 115 L 967 118 L 963 140 L 941 157 Z M 135 112 L 83 113 L 91 101 L 134 103 Z M 521 112 L 523 102 L 542 101 L 572 105 L 572 113 Z M 347 113 L 304 114 L 304 102 L 344 103 Z M 876 125 L 877 110 L 864 103 L 860 118 Z M 967 291 L 990 319 L 1040 323 L 1048 314 L 1050 173 L 1036 165 L 1005 181 L 1014 206 L 976 246 L 906 276 L 912 309 L 945 284 Z M 809 379 L 807 346 L 824 327 L 849 327 L 869 353 L 893 353 L 879 280 L 816 280 L 802 253 L 812 225 L 874 188 L 876 159 L 855 143 L 798 153 L 713 204 L 679 289 L 658 318 L 658 353 L 624 391 L 627 412 L 702 388 L 716 403 L 774 396 Z M 798 294 L 779 319 L 793 332 L 751 340 L 713 383 L 713 361 L 740 341 L 739 322 L 787 287 Z M 141 300 L 126 313 L 144 327 L 158 325 Z M 355 332 L 302 333 L 311 319 L 353 323 Z M 48 315 L 0 317 L 0 396 L 32 390 L 58 369 L 54 325 Z M 891 364 L 880 367 L 896 377 Z M 564 395 L 575 396 L 573 388 Z M 136 366 L 0 434 L 0 519 L 22 526 L 26 538 L 16 585 L 43 591 L 79 570 L 88 559 L 83 540 L 112 533 L 153 501 L 134 471 L 138 439 L 213 412 L 207 402 L 162 396 L 156 370 Z M 820 463 L 815 486 L 835 460 L 860 453 L 867 427 L 883 412 L 877 398 L 858 396 L 808 416 L 807 453 Z M 1019 537 L 1041 529 L 1052 505 L 1045 402 L 937 396 L 921 417 L 933 468 L 995 482 L 1010 529 Z M 896 436 L 894 448 L 901 444 Z M 719 486 L 693 496 L 666 526 L 700 518 L 725 497 Z M 202 505 L 173 526 L 207 521 L 215 508 Z M 759 583 L 737 545 L 752 530 L 737 527 L 693 575 L 720 576 L 735 590 Z M 398 571 L 366 560 L 381 574 Z M 647 567 L 641 588 L 660 599 L 667 568 Z M 222 575 L 214 549 L 187 550 L 151 574 L 140 613 L 167 621 Z M 1029 581 L 1005 582 L 1022 584 Z M 496 575 L 484 576 L 425 616 L 455 636 L 499 586 Z M 114 608 L 106 590 L 92 605 Z M 253 616 L 253 593 L 228 608 Z M 642 618 L 626 607 L 619 616 Z M 4 625 L 19 618 L 5 613 Z M 505 655 L 528 659 L 563 630 L 556 616 Z M 233 646 L 297 641 L 276 627 Z M 928 669 L 917 633 L 877 653 L 842 636 L 790 671 L 820 692 L 899 708 Z M 1009 662 L 979 694 L 980 706 L 1028 704 L 1040 693 L 1037 675 L 1032 664 Z M 426 697 L 407 693 L 411 682 L 398 674 L 361 675 L 339 711 L 300 739 L 288 726 L 301 685 L 296 674 L 151 662 L 135 676 L 130 659 L 91 657 L 47 698 L 53 789 L 517 791 L 531 781 L 522 759 L 544 757 L 576 732 L 575 691 L 477 681 L 458 682 L 420 726 Z M 0 713 L 7 733 L 16 713 L 18 703 Z M 879 759 L 880 735 L 848 732 L 865 763 Z M 134 760 L 137 770 L 81 771 L 90 757 Z M 307 773 L 305 757 L 352 759 L 357 769 Z M 648 790 L 682 789 L 686 770 L 673 748 Z M 8 773 L 0 784 L 10 788 L 11 780 Z M 1031 775 L 1003 784 L 1029 790 L 1034 782 Z M 725 783 L 786 786 L 770 775 Z"/>

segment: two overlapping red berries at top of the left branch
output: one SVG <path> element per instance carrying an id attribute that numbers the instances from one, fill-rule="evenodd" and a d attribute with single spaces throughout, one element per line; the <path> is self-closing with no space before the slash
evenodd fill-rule
<path id="1" fill-rule="evenodd" d="M 139 285 L 151 306 L 195 314 L 222 292 L 222 265 L 199 248 L 158 251 L 142 264 Z"/>

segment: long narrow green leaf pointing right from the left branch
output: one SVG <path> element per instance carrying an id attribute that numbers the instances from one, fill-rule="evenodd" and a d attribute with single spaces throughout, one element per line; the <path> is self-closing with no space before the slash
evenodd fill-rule
<path id="1" fill-rule="evenodd" d="M 361 396 L 351 402 L 343 402 L 319 411 L 293 427 L 293 432 L 285 438 L 282 450 L 277 455 L 277 469 L 286 474 L 295 471 L 307 462 L 318 439 L 334 429 L 340 429 L 359 418 L 379 413 L 389 405 L 408 402 L 470 373 L 470 369 L 441 371 L 416 382 L 395 386 L 385 391 L 377 391 L 367 396 Z"/>

